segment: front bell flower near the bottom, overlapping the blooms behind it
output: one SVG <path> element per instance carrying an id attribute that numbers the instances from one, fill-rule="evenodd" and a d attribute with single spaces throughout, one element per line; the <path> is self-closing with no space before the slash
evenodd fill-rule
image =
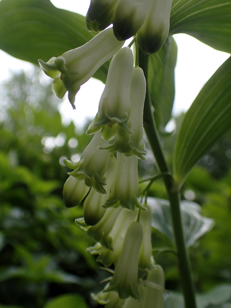
<path id="1" fill-rule="evenodd" d="M 113 278 L 105 292 L 116 291 L 121 299 L 140 299 L 138 292 L 138 260 L 142 243 L 143 230 L 139 222 L 133 222 L 127 231 Z"/>

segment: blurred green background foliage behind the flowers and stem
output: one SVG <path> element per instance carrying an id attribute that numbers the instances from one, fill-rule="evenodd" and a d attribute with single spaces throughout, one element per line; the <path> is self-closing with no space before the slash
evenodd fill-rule
<path id="1" fill-rule="evenodd" d="M 98 291 L 108 275 L 85 252 L 93 240 L 74 224 L 81 206 L 67 209 L 62 200 L 68 172 L 62 158 L 79 160 L 91 136 L 85 134 L 87 123 L 81 131 L 73 122 L 62 123 L 60 100 L 40 73 L 34 67 L 0 86 L 0 307 L 96 307 L 90 292 Z M 162 135 L 170 165 L 182 119 L 172 119 L 174 131 Z M 155 174 L 153 162 L 149 151 L 140 162 L 140 178 Z M 215 220 L 189 250 L 199 292 L 231 282 L 230 167 L 228 132 L 193 168 L 182 189 L 182 199 L 197 202 L 203 215 Z M 167 197 L 162 180 L 153 183 L 149 195 Z M 154 247 L 170 245 L 157 230 L 152 240 Z M 179 290 L 175 255 L 154 251 L 154 257 L 164 267 L 166 288 Z"/>

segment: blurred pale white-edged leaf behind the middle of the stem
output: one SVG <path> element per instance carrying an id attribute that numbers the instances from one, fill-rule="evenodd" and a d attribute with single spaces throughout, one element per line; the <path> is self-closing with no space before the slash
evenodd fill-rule
<path id="1" fill-rule="evenodd" d="M 168 200 L 158 198 L 148 198 L 148 205 L 152 209 L 152 227 L 166 235 L 174 242 L 172 228 L 171 209 Z M 191 201 L 181 201 L 180 203 L 186 245 L 193 245 L 201 236 L 209 232 L 213 225 L 213 219 L 206 218 L 200 213 L 200 206 Z"/>

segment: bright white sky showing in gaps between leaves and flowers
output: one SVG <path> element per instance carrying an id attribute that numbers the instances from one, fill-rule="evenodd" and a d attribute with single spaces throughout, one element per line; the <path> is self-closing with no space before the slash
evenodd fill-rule
<path id="1" fill-rule="evenodd" d="M 90 0 L 51 0 L 51 2 L 66 10 L 86 15 Z M 186 34 L 174 35 L 178 45 L 178 58 L 175 70 L 176 96 L 173 114 L 186 111 L 197 96 L 201 87 L 213 75 L 217 68 L 229 58 L 229 54 L 217 51 Z M 10 77 L 10 71 L 30 69 L 31 64 L 15 59 L 0 51 L 1 79 Z M 49 78 L 49 77 L 47 77 Z M 98 103 L 103 91 L 103 83 L 90 79 L 81 86 L 76 95 L 76 110 L 72 110 L 67 98 L 61 104 L 61 114 L 64 121 L 73 119 L 80 127 L 86 117 L 93 118 L 98 110 Z M 89 91 L 89 89 L 91 89 Z"/>

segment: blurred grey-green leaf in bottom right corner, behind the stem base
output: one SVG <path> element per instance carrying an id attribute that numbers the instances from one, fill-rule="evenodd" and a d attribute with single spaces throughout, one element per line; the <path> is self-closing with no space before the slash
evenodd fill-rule
<path id="1" fill-rule="evenodd" d="M 231 301 L 231 285 L 218 285 L 209 292 L 196 294 L 198 308 L 229 308 Z M 165 308 L 183 308 L 184 299 L 180 293 L 170 292 L 165 300 Z"/>

